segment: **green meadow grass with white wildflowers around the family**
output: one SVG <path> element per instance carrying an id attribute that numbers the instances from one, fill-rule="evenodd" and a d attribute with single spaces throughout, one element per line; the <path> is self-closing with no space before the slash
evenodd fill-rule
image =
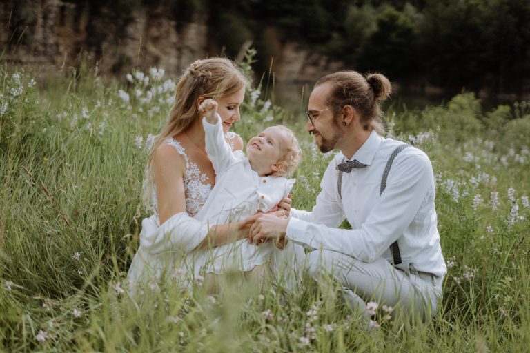
<path id="1" fill-rule="evenodd" d="M 432 321 L 388 321 L 380 310 L 380 328 L 366 330 L 336 290 L 306 276 L 292 290 L 228 282 L 220 296 L 162 283 L 131 300 L 126 272 L 149 216 L 144 167 L 175 88 L 163 76 L 135 71 L 106 83 L 84 68 L 35 85 L 32 72 L 1 68 L 0 350 L 527 350 L 529 107 L 482 112 L 473 94 L 387 112 L 389 135 L 424 150 L 435 171 L 449 273 Z M 235 131 L 248 141 L 273 123 L 293 127 L 303 148 L 293 206 L 311 209 L 332 154 L 317 152 L 305 121 L 267 103 L 260 88 L 248 90 Z"/>

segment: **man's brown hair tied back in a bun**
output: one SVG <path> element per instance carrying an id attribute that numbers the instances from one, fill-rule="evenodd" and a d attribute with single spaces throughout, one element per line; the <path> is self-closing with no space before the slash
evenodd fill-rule
<path id="1" fill-rule="evenodd" d="M 333 108 L 334 114 L 340 112 L 344 105 L 351 105 L 360 113 L 364 130 L 384 134 L 379 101 L 390 96 L 392 86 L 389 79 L 383 74 L 363 76 L 356 71 L 342 71 L 322 77 L 315 83 L 315 87 L 323 83 L 333 85 L 327 103 Z"/>

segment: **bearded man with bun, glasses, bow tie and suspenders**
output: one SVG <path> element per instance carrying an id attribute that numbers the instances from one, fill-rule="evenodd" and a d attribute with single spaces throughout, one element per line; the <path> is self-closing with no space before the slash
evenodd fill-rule
<path id="1" fill-rule="evenodd" d="M 257 215 L 250 240 L 313 250 L 306 255 L 313 277 L 331 274 L 361 309 L 376 301 L 426 318 L 438 311 L 446 273 L 433 169 L 424 152 L 382 137 L 378 101 L 390 90 L 382 74 L 337 72 L 317 81 L 306 130 L 322 152 L 340 152 L 311 212 Z M 345 218 L 351 230 L 338 228 Z"/>

